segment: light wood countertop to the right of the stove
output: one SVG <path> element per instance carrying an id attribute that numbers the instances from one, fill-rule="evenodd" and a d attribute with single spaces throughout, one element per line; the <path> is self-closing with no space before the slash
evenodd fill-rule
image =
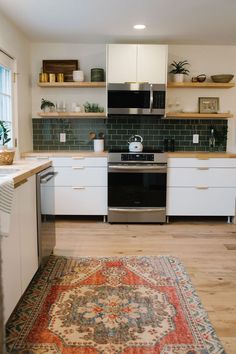
<path id="1" fill-rule="evenodd" d="M 168 152 L 168 157 L 195 157 L 197 159 L 236 158 L 234 152 L 204 152 L 204 151 L 175 151 Z"/>

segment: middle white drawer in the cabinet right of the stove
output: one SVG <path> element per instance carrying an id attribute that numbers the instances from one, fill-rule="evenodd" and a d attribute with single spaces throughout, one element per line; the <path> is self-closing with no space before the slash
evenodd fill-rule
<path id="1" fill-rule="evenodd" d="M 168 168 L 169 187 L 236 187 L 236 168 Z"/>

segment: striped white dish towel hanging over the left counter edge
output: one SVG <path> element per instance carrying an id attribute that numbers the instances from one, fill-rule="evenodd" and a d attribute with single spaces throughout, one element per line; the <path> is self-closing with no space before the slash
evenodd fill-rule
<path id="1" fill-rule="evenodd" d="M 13 195 L 13 179 L 4 178 L 0 181 L 0 236 L 9 235 Z"/>

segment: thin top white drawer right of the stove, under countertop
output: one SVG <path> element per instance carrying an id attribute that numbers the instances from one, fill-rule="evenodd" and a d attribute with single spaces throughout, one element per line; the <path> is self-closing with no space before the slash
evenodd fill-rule
<path id="1" fill-rule="evenodd" d="M 235 158 L 169 158 L 168 167 L 236 167 Z"/>

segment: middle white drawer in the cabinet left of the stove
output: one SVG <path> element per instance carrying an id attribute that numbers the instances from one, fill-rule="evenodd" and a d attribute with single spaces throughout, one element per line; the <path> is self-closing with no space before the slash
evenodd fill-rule
<path id="1" fill-rule="evenodd" d="M 107 186 L 106 167 L 55 167 L 55 186 Z"/>

